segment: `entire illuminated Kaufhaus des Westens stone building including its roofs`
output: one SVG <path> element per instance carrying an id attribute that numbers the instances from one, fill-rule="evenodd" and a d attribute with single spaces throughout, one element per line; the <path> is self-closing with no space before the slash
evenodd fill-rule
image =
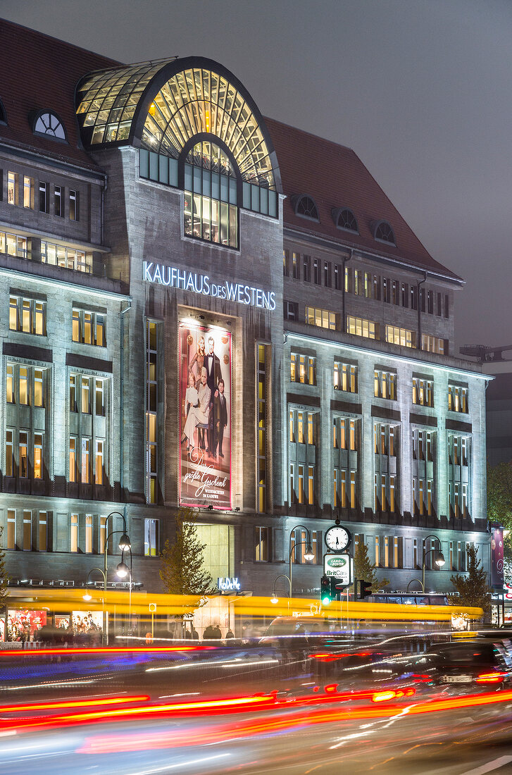
<path id="1" fill-rule="evenodd" d="M 211 60 L 124 65 L 1 23 L 2 57 L 40 52 L 0 93 L 12 578 L 84 584 L 126 508 L 133 580 L 160 591 L 179 504 L 212 576 L 254 594 L 291 553 L 294 594 L 315 596 L 338 515 L 393 590 L 431 533 L 447 562 L 429 588 L 468 543 L 488 567 L 485 378 L 452 354 L 462 281 L 356 154 L 263 119 Z"/>

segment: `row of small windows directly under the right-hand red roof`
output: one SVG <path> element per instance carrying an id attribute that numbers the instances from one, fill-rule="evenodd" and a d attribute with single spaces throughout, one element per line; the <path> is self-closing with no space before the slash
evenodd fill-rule
<path id="1" fill-rule="evenodd" d="M 313 258 L 292 251 L 283 250 L 283 275 L 295 280 L 313 282 L 325 288 L 342 289 L 345 293 L 384 301 L 387 304 L 404 308 L 418 309 L 430 315 L 448 318 L 448 294 L 442 294 L 433 289 L 423 288 L 418 284 L 408 284 L 390 277 L 381 277 L 363 269 L 353 269 L 342 263 Z"/>

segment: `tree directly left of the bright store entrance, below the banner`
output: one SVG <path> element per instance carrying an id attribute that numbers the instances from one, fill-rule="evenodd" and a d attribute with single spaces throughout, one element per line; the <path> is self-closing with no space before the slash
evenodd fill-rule
<path id="1" fill-rule="evenodd" d="M 198 512 L 193 508 L 180 507 L 174 518 L 176 537 L 174 543 L 167 539 L 160 553 L 160 579 L 168 594 L 197 595 L 212 594 L 213 580 L 204 570 L 203 551 L 206 544 L 198 538 Z"/>

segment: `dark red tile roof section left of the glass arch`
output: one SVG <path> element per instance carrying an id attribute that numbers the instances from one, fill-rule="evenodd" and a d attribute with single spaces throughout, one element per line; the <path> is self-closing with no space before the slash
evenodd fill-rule
<path id="1" fill-rule="evenodd" d="M 81 145 L 74 90 L 88 72 L 119 62 L 5 19 L 0 19 L 0 40 L 0 100 L 8 122 L 0 125 L 0 140 L 97 169 Z M 57 113 L 68 143 L 33 134 L 29 114 L 43 109 Z"/>

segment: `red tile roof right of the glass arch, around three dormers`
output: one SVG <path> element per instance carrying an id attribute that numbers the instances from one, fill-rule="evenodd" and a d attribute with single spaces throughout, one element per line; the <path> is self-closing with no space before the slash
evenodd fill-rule
<path id="1" fill-rule="evenodd" d="M 327 238 L 340 245 L 360 247 L 411 267 L 461 281 L 425 250 L 352 149 L 273 119 L 265 119 L 265 122 L 277 153 L 283 192 L 287 195 L 283 203 L 285 228 Z M 295 215 L 292 198 L 301 194 L 314 199 L 319 223 Z M 340 231 L 335 226 L 332 209 L 340 207 L 350 208 L 356 215 L 359 235 Z M 389 221 L 393 227 L 396 247 L 376 243 L 373 239 L 371 224 L 381 219 Z"/>

